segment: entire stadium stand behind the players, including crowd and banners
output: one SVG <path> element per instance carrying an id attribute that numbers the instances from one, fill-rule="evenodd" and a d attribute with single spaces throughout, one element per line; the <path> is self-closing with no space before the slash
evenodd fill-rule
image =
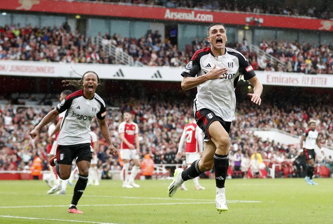
<path id="1" fill-rule="evenodd" d="M 219 22 L 226 26 L 227 47 L 244 54 L 264 85 L 260 107 L 246 99 L 253 90 L 248 82 L 241 78 L 235 86 L 239 105 L 228 176 L 303 177 L 299 142 L 271 141 L 255 131 L 298 138 L 309 119 L 316 119 L 327 147 L 323 154 L 319 150 L 315 175 L 332 173 L 333 11 L 326 2 L 307 7 L 289 1 L 274 7 L 274 1 L 0 2 L 0 83 L 6 89 L 0 96 L 0 172 L 27 170 L 35 155 L 47 169 L 47 127 L 36 139 L 29 132 L 57 105 L 63 79 L 93 70 L 102 79 L 97 93 L 106 99 L 115 146 L 122 113 L 129 109 L 140 130 L 140 159 L 150 154 L 172 176 L 185 160 L 176 154 L 196 93 L 181 90 L 180 74 L 197 50 L 209 47 L 207 27 Z M 107 152 L 96 120 L 92 127 L 100 141 L 95 149 L 100 173 L 119 173 L 119 155 Z M 260 166 L 251 162 L 256 153 Z M 241 170 L 235 170 L 238 156 Z M 330 169 L 328 175 L 320 167 Z"/>

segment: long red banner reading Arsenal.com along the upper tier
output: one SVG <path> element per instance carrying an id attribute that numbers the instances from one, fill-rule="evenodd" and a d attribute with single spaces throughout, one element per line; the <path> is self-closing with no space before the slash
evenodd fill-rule
<path id="1" fill-rule="evenodd" d="M 134 18 L 138 20 L 178 20 L 200 23 L 220 22 L 235 25 L 246 25 L 248 24 L 246 21 L 251 18 L 252 21 L 258 21 L 262 27 L 333 31 L 333 21 L 331 20 L 238 12 L 167 9 L 163 7 L 136 5 L 126 6 L 90 1 L 0 0 L 0 10 L 79 14 L 107 18 Z"/>

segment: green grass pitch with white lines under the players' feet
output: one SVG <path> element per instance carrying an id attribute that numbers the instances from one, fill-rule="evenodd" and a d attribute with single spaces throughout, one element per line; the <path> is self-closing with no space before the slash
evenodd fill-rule
<path id="1" fill-rule="evenodd" d="M 173 198 L 171 181 L 136 181 L 141 188 L 123 189 L 121 181 L 87 186 L 78 208 L 69 214 L 73 186 L 66 195 L 47 195 L 42 181 L 0 181 L 0 223 L 333 223 L 333 179 L 227 180 L 229 211 L 215 209 L 214 180 L 200 180 L 205 190 Z"/>

